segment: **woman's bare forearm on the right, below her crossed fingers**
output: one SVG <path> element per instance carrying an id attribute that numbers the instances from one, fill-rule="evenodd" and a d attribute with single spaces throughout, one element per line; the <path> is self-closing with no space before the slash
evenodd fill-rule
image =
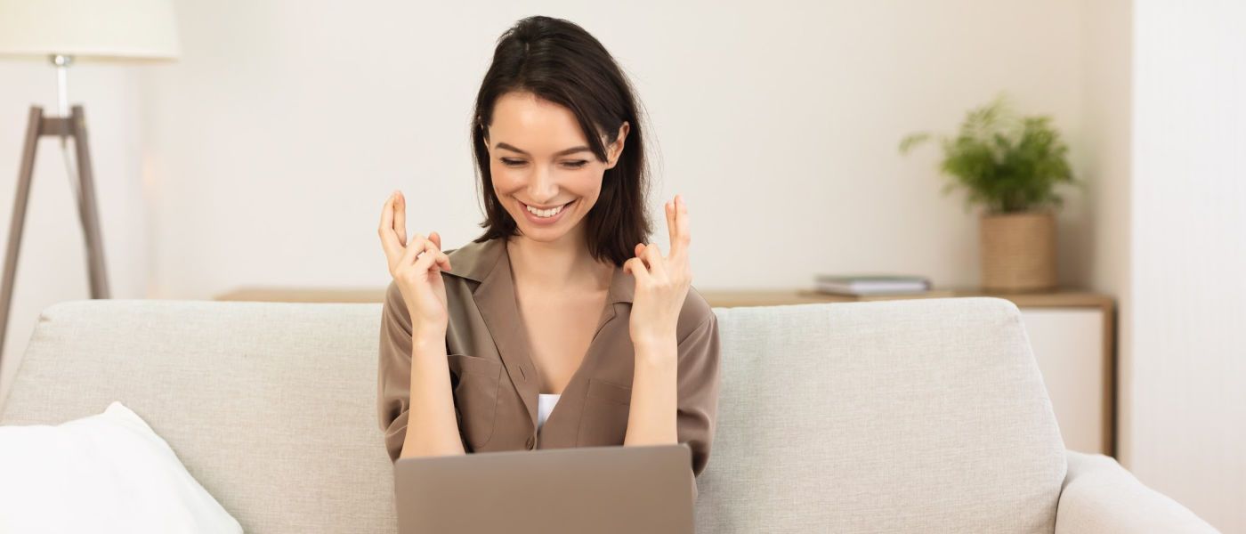
<path id="1" fill-rule="evenodd" d="M 624 446 L 678 443 L 677 385 L 679 345 L 669 340 L 635 345 L 632 406 Z"/>

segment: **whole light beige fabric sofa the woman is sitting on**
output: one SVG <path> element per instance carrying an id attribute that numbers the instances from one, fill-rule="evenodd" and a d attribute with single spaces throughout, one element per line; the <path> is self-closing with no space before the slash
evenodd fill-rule
<path id="1" fill-rule="evenodd" d="M 714 312 L 721 388 L 699 533 L 1216 532 L 1113 458 L 1064 448 L 1007 300 Z M 394 533 L 380 314 L 60 302 L 39 317 L 0 424 L 121 401 L 249 533 Z"/>

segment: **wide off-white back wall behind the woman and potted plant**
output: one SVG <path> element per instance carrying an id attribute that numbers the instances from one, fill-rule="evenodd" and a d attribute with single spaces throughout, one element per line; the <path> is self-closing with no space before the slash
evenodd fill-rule
<path id="1" fill-rule="evenodd" d="M 179 2 L 184 56 L 150 73 L 145 106 L 153 296 L 383 286 L 395 188 L 421 205 L 412 232 L 477 235 L 467 118 L 495 40 L 531 14 L 583 25 L 632 75 L 662 152 L 653 205 L 687 195 L 703 289 L 856 270 L 973 285 L 974 215 L 939 195 L 938 151 L 902 158 L 900 138 L 951 132 L 1001 90 L 1085 137 L 1075 0 L 525 4 Z M 1085 283 L 1078 200 L 1060 266 Z"/>

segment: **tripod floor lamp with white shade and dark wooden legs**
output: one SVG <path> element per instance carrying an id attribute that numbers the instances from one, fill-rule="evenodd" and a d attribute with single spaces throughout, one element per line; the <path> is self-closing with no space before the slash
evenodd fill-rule
<path id="1" fill-rule="evenodd" d="M 60 139 L 70 184 L 86 241 L 92 299 L 108 299 L 95 177 L 82 106 L 69 105 L 69 67 L 75 61 L 168 61 L 178 55 L 172 0 L 0 0 L 0 56 L 50 59 L 56 67 L 57 115 L 31 106 L 26 143 L 17 169 L 12 223 L 0 285 L 0 362 L 12 305 L 21 232 L 35 173 L 35 154 L 44 137 Z M 0 106 L 5 102 L 0 102 Z M 74 143 L 70 163 L 69 142 Z"/>

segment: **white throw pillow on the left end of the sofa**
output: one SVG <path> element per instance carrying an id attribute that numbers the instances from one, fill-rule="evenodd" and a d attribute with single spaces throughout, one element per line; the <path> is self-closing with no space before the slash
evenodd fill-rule
<path id="1" fill-rule="evenodd" d="M 0 533 L 240 533 L 120 402 L 61 424 L 0 427 Z"/>

